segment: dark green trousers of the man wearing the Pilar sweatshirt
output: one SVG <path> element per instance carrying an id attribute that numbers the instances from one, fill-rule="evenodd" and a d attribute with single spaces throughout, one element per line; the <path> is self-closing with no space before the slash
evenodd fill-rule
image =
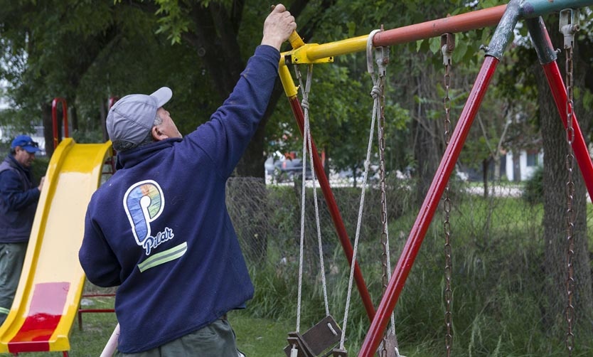
<path id="1" fill-rule="evenodd" d="M 121 353 L 117 357 L 239 357 L 235 331 L 226 319 L 218 319 L 212 324 L 181 336 L 162 346 L 139 353 Z"/>

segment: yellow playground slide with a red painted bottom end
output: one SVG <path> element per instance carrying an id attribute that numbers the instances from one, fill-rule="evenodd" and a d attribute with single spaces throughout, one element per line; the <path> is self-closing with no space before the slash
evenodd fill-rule
<path id="1" fill-rule="evenodd" d="M 100 185 L 111 142 L 66 138 L 51 157 L 14 302 L 0 327 L 0 353 L 68 351 L 85 274 L 78 262 L 87 203 Z"/>

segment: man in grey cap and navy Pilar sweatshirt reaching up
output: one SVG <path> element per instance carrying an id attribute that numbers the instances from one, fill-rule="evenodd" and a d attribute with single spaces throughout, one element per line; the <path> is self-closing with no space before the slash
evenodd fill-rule
<path id="1" fill-rule="evenodd" d="M 225 183 L 272 94 L 279 48 L 297 27 L 282 4 L 210 121 L 181 137 L 172 92 L 127 95 L 109 110 L 118 170 L 92 196 L 79 252 L 90 282 L 118 286 L 118 356 L 238 356 L 227 311 L 253 296 Z"/>

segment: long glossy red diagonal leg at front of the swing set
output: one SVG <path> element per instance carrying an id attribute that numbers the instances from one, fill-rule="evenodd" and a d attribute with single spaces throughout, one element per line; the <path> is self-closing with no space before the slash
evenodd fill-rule
<path id="1" fill-rule="evenodd" d="M 439 206 L 439 200 L 441 199 L 445 186 L 447 186 L 449 176 L 451 176 L 451 173 L 453 172 L 455 163 L 459 158 L 459 153 L 461 153 L 461 148 L 467 138 L 471 123 L 474 122 L 476 113 L 484 99 L 488 84 L 492 79 L 494 70 L 496 70 L 496 65 L 498 65 L 498 59 L 489 55 L 486 56 L 484 64 L 482 65 L 480 73 L 474 83 L 474 87 L 469 93 L 464 110 L 461 112 L 459 123 L 455 127 L 451 141 L 444 152 L 437 173 L 434 174 L 434 179 L 432 179 L 427 196 L 424 198 L 420 213 L 418 213 L 416 222 L 412 226 L 410 236 L 407 238 L 407 242 L 402 250 L 402 255 L 400 255 L 400 260 L 397 262 L 397 266 L 393 271 L 387 290 L 383 295 L 383 299 L 381 299 L 375 319 L 373 319 L 373 322 L 370 324 L 368 334 L 366 335 L 363 346 L 358 353 L 359 357 L 373 356 L 379 346 L 383 337 L 383 331 L 385 331 L 385 326 L 388 324 L 391 312 L 395 308 L 395 304 L 400 297 L 407 276 L 410 274 L 410 270 L 412 269 L 414 260 L 420 250 L 420 245 L 422 245 L 422 240 L 424 240 L 424 236 L 432 221 L 434 212 L 437 210 L 437 206 Z"/>

